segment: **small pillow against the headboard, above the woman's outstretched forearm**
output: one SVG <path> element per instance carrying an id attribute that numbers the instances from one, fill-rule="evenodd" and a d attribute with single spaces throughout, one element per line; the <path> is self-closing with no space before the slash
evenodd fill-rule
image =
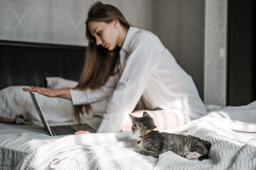
<path id="1" fill-rule="evenodd" d="M 46 77 L 46 86 L 50 89 L 70 89 L 77 84 L 77 81 L 63 79 L 62 77 Z"/>

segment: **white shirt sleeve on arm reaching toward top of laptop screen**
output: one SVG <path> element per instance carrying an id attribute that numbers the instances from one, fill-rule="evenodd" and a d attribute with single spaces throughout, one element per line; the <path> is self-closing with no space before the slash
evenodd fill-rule
<path id="1" fill-rule="evenodd" d="M 91 90 L 87 89 L 85 91 L 70 89 L 71 99 L 73 105 L 82 105 L 87 103 L 93 103 L 96 101 L 102 101 L 103 99 L 112 96 L 114 89 L 117 86 L 117 80 L 114 76 L 111 76 L 104 86 L 99 89 Z"/>

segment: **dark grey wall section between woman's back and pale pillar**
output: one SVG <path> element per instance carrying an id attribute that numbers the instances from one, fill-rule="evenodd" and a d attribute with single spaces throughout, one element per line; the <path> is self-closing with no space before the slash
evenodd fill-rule
<path id="1" fill-rule="evenodd" d="M 152 1 L 152 30 L 191 75 L 203 99 L 205 0 Z"/>

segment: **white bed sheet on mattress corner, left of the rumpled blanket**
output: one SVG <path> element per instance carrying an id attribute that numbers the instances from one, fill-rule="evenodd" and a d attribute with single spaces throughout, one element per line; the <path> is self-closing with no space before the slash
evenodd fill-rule
<path id="1" fill-rule="evenodd" d="M 26 154 L 56 138 L 40 125 L 0 123 L 0 169 L 15 169 Z"/>

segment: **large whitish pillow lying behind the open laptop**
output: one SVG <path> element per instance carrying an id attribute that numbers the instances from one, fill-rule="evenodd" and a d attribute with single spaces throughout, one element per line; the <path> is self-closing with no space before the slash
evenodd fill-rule
<path id="1" fill-rule="evenodd" d="M 9 86 L 0 91 L 0 121 L 6 123 L 41 124 L 28 91 L 23 87 Z M 75 123 L 73 105 L 70 100 L 50 98 L 35 93 L 48 123 Z M 90 115 L 82 115 L 82 120 Z"/>

